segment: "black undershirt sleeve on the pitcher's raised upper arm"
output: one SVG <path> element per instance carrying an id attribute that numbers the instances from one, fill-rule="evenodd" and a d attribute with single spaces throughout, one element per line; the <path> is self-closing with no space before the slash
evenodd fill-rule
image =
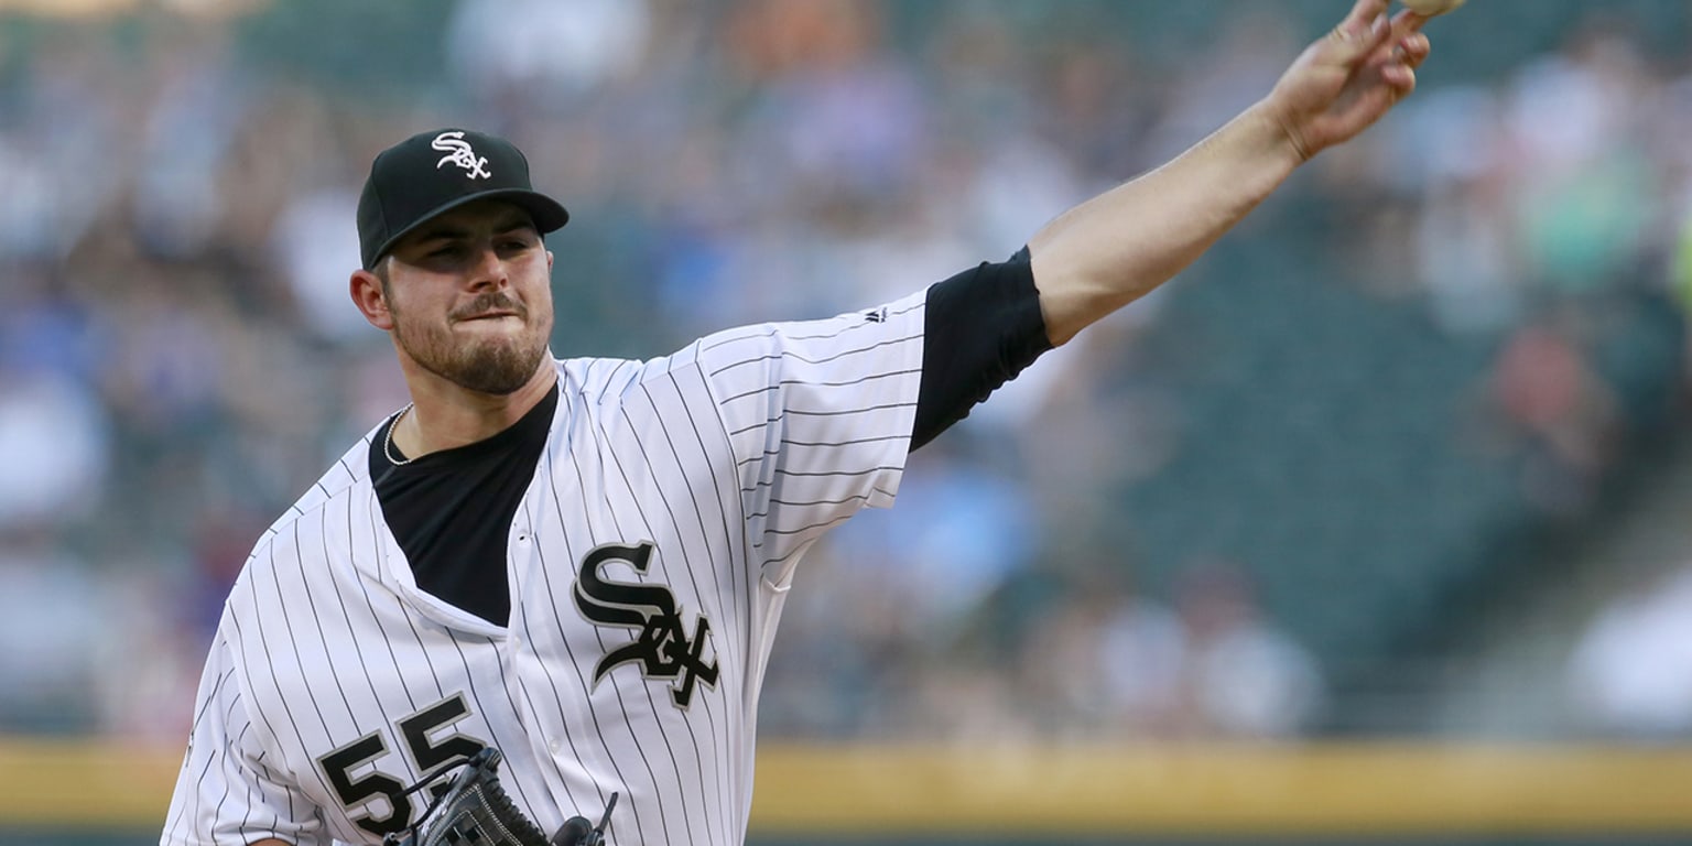
<path id="1" fill-rule="evenodd" d="M 968 416 L 1049 349 L 1027 247 L 1007 262 L 983 262 L 929 288 L 910 448 Z"/>

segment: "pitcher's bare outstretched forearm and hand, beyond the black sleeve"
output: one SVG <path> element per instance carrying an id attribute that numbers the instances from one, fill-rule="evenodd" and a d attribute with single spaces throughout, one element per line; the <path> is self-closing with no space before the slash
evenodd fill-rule
<path id="1" fill-rule="evenodd" d="M 1054 345 L 1181 272 L 1294 168 L 1362 132 L 1416 86 L 1426 19 L 1408 10 L 1389 19 L 1387 7 L 1357 0 L 1264 100 L 1029 240 Z"/>

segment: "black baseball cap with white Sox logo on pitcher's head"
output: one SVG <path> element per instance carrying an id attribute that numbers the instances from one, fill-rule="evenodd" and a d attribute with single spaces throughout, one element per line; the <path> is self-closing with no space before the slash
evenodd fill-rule
<path id="1" fill-rule="evenodd" d="M 543 235 L 570 222 L 557 200 L 530 184 L 528 159 L 506 139 L 437 129 L 387 147 L 371 162 L 359 195 L 359 252 L 374 269 L 394 242 L 426 220 L 475 200 L 504 200 Z"/>

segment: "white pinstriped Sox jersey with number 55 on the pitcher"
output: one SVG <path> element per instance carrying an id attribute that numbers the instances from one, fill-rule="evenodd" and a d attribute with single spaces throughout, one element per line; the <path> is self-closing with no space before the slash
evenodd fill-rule
<path id="1" fill-rule="evenodd" d="M 619 792 L 609 843 L 741 843 L 794 563 L 892 504 L 922 313 L 919 293 L 650 362 L 558 362 L 508 538 L 509 626 L 416 587 L 367 435 L 237 579 L 161 843 L 379 843 L 425 804 L 389 792 L 479 744 L 548 834 Z"/>

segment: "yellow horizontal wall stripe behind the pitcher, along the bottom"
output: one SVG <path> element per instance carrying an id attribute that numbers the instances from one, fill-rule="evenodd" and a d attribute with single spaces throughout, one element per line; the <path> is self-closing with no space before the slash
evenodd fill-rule
<path id="1" fill-rule="evenodd" d="M 0 827 L 157 829 L 181 750 L 0 739 Z M 783 746 L 755 834 L 1692 834 L 1692 748 Z"/>

